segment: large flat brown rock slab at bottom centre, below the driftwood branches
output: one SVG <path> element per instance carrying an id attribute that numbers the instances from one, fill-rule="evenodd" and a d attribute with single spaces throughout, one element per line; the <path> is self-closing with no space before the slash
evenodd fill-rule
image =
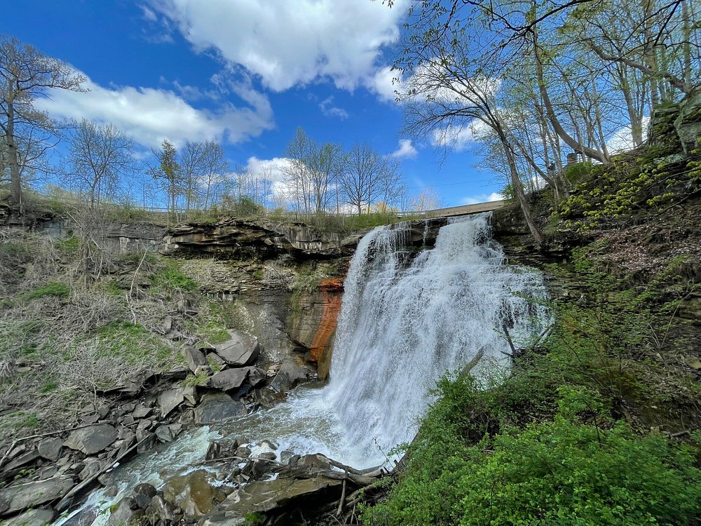
<path id="1" fill-rule="evenodd" d="M 325 477 L 257 481 L 236 490 L 200 522 L 205 526 L 245 524 L 249 513 L 266 513 L 279 508 L 303 507 L 305 503 L 338 499 L 341 480 Z M 240 522 L 237 522 L 240 521 Z"/>

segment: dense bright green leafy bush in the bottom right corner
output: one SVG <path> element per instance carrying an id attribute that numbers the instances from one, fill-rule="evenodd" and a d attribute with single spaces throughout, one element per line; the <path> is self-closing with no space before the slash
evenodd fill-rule
<path id="1" fill-rule="evenodd" d="M 366 524 L 671 525 L 701 514 L 690 450 L 601 414 L 598 424 L 584 422 L 592 416 L 586 390 L 561 393 L 552 420 L 523 428 L 500 428 L 503 389 L 458 378 L 442 380 L 441 391 L 402 480 L 365 512 Z"/>

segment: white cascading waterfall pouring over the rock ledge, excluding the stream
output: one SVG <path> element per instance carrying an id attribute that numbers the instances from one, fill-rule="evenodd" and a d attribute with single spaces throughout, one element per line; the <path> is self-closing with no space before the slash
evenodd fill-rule
<path id="1" fill-rule="evenodd" d="M 354 457 L 410 441 L 446 371 L 478 353 L 473 373 L 508 368 L 503 325 L 518 346 L 548 322 L 542 276 L 503 264 L 489 215 L 453 220 L 407 263 L 408 235 L 400 224 L 362 238 L 344 283 L 325 396 Z"/>

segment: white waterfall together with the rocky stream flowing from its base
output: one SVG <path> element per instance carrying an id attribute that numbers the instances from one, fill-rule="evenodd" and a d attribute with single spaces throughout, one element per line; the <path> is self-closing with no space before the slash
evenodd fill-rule
<path id="1" fill-rule="evenodd" d="M 489 214 L 451 220 L 433 248 L 417 253 L 409 245 L 409 224 L 376 228 L 360 241 L 344 282 L 327 384 L 302 384 L 275 407 L 191 429 L 139 454 L 114 470 L 117 497 L 97 491 L 86 506 L 105 510 L 137 483 L 163 485 L 199 464 L 220 434 L 253 444 L 268 439 L 278 452 L 320 452 L 356 468 L 377 466 L 414 437 L 445 372 L 479 358 L 473 375 L 506 374 L 503 326 L 523 346 L 550 323 L 540 272 L 503 263 Z M 93 525 L 107 524 L 105 515 Z"/>

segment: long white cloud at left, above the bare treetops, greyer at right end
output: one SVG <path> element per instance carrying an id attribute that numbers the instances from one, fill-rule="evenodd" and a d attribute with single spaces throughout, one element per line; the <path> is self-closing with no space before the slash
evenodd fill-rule
<path id="1" fill-rule="evenodd" d="M 103 88 L 88 81 L 87 93 L 49 90 L 36 108 L 53 117 L 113 123 L 135 142 L 156 147 L 163 139 L 175 146 L 186 140 L 222 140 L 232 144 L 273 127 L 273 110 L 265 95 L 239 84 L 236 95 L 250 107 L 220 104 L 196 109 L 171 90 L 121 86 Z"/>

